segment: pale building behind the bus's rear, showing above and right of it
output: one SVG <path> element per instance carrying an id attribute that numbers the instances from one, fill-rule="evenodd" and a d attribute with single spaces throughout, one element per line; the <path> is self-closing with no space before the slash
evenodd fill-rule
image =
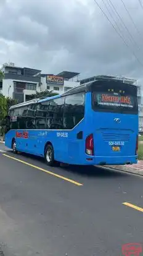
<path id="1" fill-rule="evenodd" d="M 112 80 L 119 80 L 122 81 L 123 83 L 129 83 L 132 85 L 136 85 L 137 87 L 137 101 L 139 105 L 139 128 L 142 127 L 143 130 L 143 87 L 142 85 L 137 82 L 136 79 L 128 79 L 126 77 L 113 77 L 110 75 L 95 75 L 94 77 L 89 77 L 88 79 L 83 79 L 80 81 L 80 85 L 93 82 L 94 80 L 107 80 L 107 79 L 112 79 Z"/>

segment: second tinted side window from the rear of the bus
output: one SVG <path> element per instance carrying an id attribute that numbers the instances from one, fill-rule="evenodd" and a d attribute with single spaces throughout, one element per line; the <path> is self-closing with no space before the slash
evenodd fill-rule
<path id="1" fill-rule="evenodd" d="M 49 101 L 47 129 L 63 129 L 64 97 Z"/>

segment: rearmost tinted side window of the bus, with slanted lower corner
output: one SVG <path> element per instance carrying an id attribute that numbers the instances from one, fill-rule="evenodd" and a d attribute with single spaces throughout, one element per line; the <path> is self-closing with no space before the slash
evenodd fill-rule
<path id="1" fill-rule="evenodd" d="M 73 129 L 84 117 L 84 93 L 76 93 L 65 98 L 63 127 Z"/>

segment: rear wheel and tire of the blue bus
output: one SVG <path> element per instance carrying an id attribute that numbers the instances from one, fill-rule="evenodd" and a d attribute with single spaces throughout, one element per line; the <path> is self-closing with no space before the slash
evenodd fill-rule
<path id="1" fill-rule="evenodd" d="M 54 160 L 54 148 L 52 147 L 52 144 L 47 144 L 46 150 L 44 153 L 44 159 L 46 161 L 46 164 L 48 166 L 54 166 L 55 160 Z"/>

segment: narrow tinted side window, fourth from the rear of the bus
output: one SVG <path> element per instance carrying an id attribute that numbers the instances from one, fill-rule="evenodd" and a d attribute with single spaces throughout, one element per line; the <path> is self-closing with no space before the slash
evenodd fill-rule
<path id="1" fill-rule="evenodd" d="M 31 104 L 27 109 L 26 129 L 35 129 L 36 104 Z"/>

